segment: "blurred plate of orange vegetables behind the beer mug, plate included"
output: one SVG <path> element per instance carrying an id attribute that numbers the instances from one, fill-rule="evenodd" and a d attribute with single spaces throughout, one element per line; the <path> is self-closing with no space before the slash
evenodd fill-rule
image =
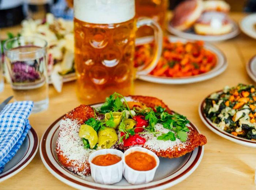
<path id="1" fill-rule="evenodd" d="M 152 41 L 153 37 L 136 39 L 135 66 L 150 61 Z M 210 43 L 168 35 L 164 38 L 162 56 L 155 69 L 138 78 L 161 84 L 188 84 L 216 77 L 226 68 L 225 55 Z"/>

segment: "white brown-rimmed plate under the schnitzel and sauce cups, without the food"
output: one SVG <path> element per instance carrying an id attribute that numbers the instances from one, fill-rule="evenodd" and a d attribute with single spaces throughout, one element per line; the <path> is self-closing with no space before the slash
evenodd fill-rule
<path id="1" fill-rule="evenodd" d="M 102 104 L 95 104 L 93 107 L 99 107 L 101 105 Z M 203 157 L 204 147 L 198 147 L 180 158 L 160 158 L 160 164 L 157 168 L 154 180 L 142 185 L 131 185 L 124 177 L 120 182 L 113 185 L 95 183 L 91 176 L 83 178 L 63 167 L 57 159 L 55 152 L 56 140 L 59 135 L 60 120 L 63 116 L 54 121 L 43 134 L 39 148 L 40 156 L 45 167 L 57 179 L 76 189 L 166 189 L 167 187 L 176 185 L 191 175 L 192 172 L 196 170 Z M 196 126 L 192 123 L 189 125 L 191 128 L 197 130 Z"/>

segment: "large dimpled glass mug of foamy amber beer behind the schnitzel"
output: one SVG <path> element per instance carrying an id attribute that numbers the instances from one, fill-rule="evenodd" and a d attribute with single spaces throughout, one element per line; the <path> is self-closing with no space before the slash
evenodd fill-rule
<path id="1" fill-rule="evenodd" d="M 74 0 L 77 95 L 84 103 L 102 102 L 114 92 L 133 93 L 135 75 L 154 69 L 162 52 L 162 30 L 152 19 L 135 19 L 134 0 Z M 150 26 L 155 55 L 135 70 L 135 32 Z"/>

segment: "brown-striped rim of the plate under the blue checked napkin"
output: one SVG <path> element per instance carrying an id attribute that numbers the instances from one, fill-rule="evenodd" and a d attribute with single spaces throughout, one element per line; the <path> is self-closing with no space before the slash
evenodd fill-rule
<path id="1" fill-rule="evenodd" d="M 31 151 L 29 152 L 29 149 L 32 145 L 32 143 L 31 143 L 32 140 L 30 139 L 30 135 L 34 140 L 34 143 L 33 143 L 33 147 L 31 148 Z M 8 178 L 11 178 L 15 174 L 17 174 L 18 172 L 23 170 L 23 168 L 25 168 L 33 160 L 35 154 L 37 153 L 37 149 L 39 146 L 39 140 L 38 140 L 37 133 L 35 132 L 35 130 L 32 127 L 29 130 L 27 137 L 29 138 L 29 147 L 28 147 L 26 154 L 23 156 L 22 159 L 20 159 L 20 161 L 22 161 L 24 159 L 24 157 L 26 157 L 26 159 L 23 160 L 22 163 L 20 163 L 20 161 L 19 161 L 18 164 L 16 165 L 17 167 L 10 168 L 9 170 L 7 170 L 6 174 L 0 176 L 0 182 L 6 180 Z M 28 153 L 29 153 L 29 155 L 28 155 Z"/>

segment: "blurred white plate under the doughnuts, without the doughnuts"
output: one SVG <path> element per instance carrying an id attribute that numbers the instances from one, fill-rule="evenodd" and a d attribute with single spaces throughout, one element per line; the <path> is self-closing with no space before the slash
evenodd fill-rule
<path id="1" fill-rule="evenodd" d="M 174 28 L 172 26 L 172 24 L 170 24 L 170 22 L 167 25 L 167 30 L 178 36 L 178 37 L 182 37 L 182 38 L 187 38 L 187 39 L 192 39 L 192 40 L 203 40 L 203 41 L 224 41 L 227 39 L 231 39 L 236 37 L 240 31 L 238 28 L 238 25 L 236 22 L 234 22 L 233 20 L 231 20 L 231 23 L 233 25 L 232 30 L 230 31 L 230 33 L 227 34 L 221 34 L 221 35 L 199 35 L 196 34 L 193 30 L 191 31 L 180 31 L 177 30 L 176 28 Z"/>

